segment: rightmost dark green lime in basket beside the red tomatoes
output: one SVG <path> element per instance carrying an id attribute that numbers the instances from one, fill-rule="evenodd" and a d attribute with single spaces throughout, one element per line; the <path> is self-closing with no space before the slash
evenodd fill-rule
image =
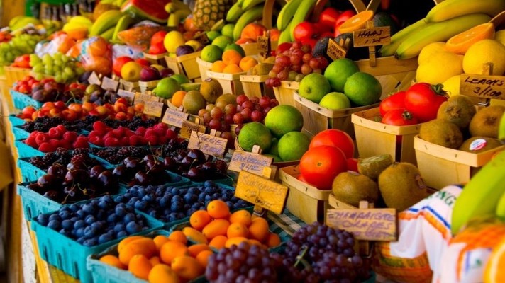
<path id="1" fill-rule="evenodd" d="M 370 105 L 379 101 L 382 86 L 371 74 L 358 71 L 345 81 L 344 94 L 357 106 Z"/>

